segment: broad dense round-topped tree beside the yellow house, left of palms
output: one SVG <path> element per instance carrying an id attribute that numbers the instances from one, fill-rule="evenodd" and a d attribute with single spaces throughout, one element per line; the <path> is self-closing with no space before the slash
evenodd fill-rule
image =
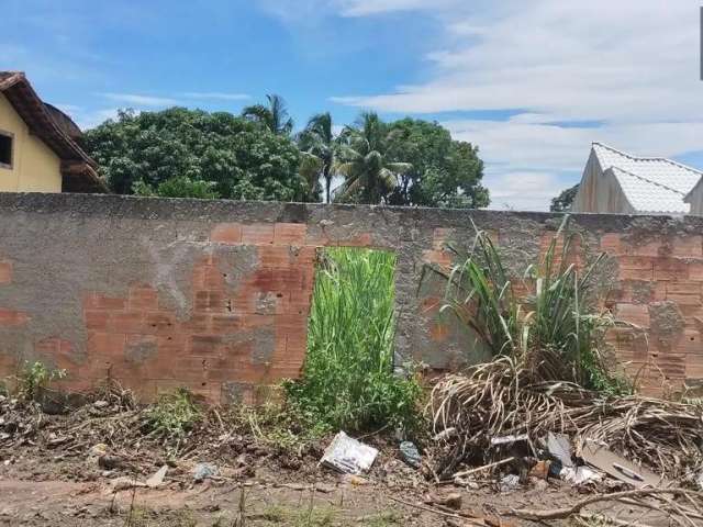
<path id="1" fill-rule="evenodd" d="M 83 145 L 118 193 L 311 199 L 295 144 L 226 112 L 123 111 L 86 132 Z"/>

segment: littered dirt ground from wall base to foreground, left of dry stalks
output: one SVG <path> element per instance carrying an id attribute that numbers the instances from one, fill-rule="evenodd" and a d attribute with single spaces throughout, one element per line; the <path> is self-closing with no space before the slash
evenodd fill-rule
<path id="1" fill-rule="evenodd" d="M 471 481 L 470 487 L 434 484 L 400 459 L 394 439 L 376 436 L 365 438 L 380 450 L 371 470 L 360 478 L 341 475 L 317 463 L 328 438 L 280 449 L 265 435 L 248 434 L 247 427 L 241 435 L 215 416 L 192 430 L 175 456 L 172 441 L 145 435 L 140 411 L 125 411 L 119 402 L 55 416 L 5 401 L 0 526 L 507 527 L 537 525 L 511 517 L 511 508 L 565 507 L 585 497 L 556 478 L 529 478 L 513 490 L 501 490 L 500 474 Z M 193 469 L 203 462 L 216 470 L 194 481 Z M 163 483 L 147 486 L 165 464 Z M 460 505 L 443 505 L 453 493 Z M 647 523 L 657 525 L 651 514 Z"/>

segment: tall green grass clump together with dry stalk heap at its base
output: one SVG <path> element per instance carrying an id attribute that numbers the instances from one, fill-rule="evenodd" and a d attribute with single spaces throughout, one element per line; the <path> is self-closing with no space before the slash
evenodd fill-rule
<path id="1" fill-rule="evenodd" d="M 501 487 L 511 489 L 526 483 L 528 473 L 571 476 L 589 462 L 584 445 L 598 445 L 609 457 L 598 469 L 614 478 L 604 483 L 634 484 L 635 491 L 591 484 L 596 493 L 572 506 L 505 514 L 583 520 L 585 507 L 613 502 L 666 513 L 672 524 L 703 525 L 703 405 L 635 394 L 605 360 L 603 336 L 615 321 L 598 312 L 592 289 L 603 255 L 579 264 L 571 251 L 577 237 L 565 218 L 544 260 L 521 279 L 477 229 L 464 262 L 450 272 L 435 269 L 447 282 L 444 311 L 475 332 L 493 360 L 436 381 L 425 470 L 437 483 L 496 474 Z M 518 295 L 515 283 L 529 292 Z M 547 441 L 554 433 L 566 441 L 556 455 Z M 574 485 L 583 489 L 581 483 Z M 609 515 L 601 519 L 627 525 Z"/>

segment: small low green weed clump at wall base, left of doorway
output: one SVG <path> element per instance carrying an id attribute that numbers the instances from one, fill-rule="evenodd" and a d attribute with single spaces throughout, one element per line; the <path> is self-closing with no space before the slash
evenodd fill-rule
<path id="1" fill-rule="evenodd" d="M 174 393 L 163 395 L 146 411 L 149 429 L 168 437 L 183 436 L 202 419 L 202 412 L 192 394 L 179 388 Z"/>

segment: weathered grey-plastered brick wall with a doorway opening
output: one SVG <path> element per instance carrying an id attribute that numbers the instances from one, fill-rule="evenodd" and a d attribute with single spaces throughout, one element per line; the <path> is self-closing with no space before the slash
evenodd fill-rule
<path id="1" fill-rule="evenodd" d="M 436 369 L 484 356 L 437 316 L 426 264 L 468 246 L 471 221 L 522 274 L 558 228 L 556 214 L 345 205 L 0 194 L 0 377 L 23 360 L 66 368 L 70 388 L 111 375 L 144 397 L 187 385 L 252 400 L 295 377 L 305 354 L 316 248 L 398 254 L 399 361 Z M 603 305 L 636 328 L 612 333 L 635 372 L 703 379 L 703 218 L 576 215 L 573 257 L 610 257 Z M 656 374 L 645 375 L 657 382 Z"/>

